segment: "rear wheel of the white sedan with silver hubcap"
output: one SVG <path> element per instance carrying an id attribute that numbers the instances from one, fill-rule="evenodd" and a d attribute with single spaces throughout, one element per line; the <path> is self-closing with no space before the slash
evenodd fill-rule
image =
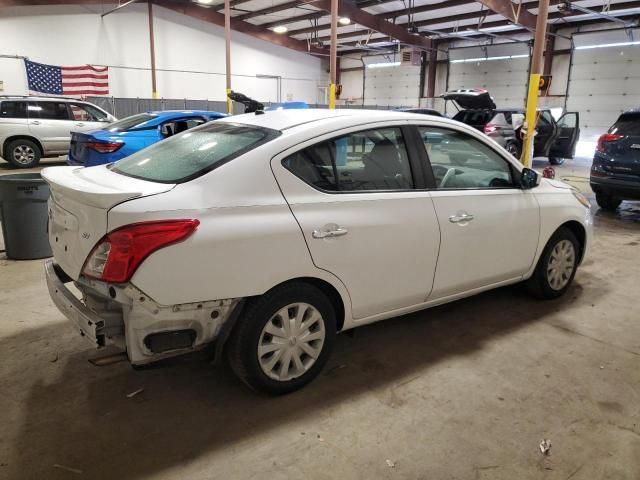
<path id="1" fill-rule="evenodd" d="M 227 345 L 234 373 L 251 388 L 282 395 L 304 387 L 327 362 L 336 334 L 333 305 L 303 282 L 247 304 Z"/>

